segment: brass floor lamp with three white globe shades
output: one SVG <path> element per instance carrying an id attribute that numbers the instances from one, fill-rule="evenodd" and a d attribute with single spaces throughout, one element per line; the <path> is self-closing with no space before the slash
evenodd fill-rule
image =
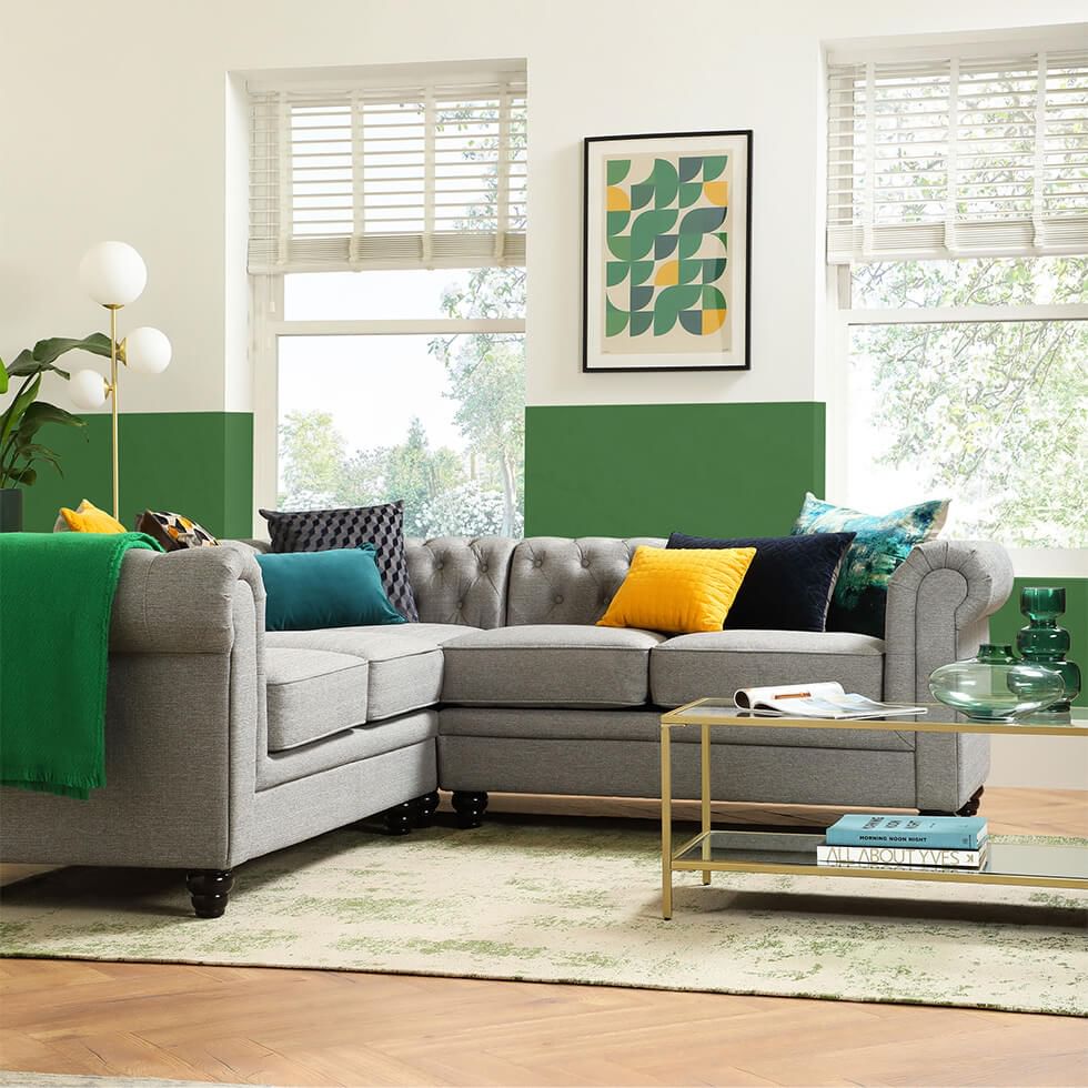
<path id="1" fill-rule="evenodd" d="M 120 473 L 118 467 L 118 362 L 140 374 L 160 374 L 170 364 L 170 341 L 165 333 L 149 325 L 133 329 L 117 339 L 117 312 L 135 302 L 148 282 L 143 258 L 124 242 L 101 242 L 83 254 L 79 266 L 83 290 L 110 311 L 110 377 L 97 370 L 72 374 L 71 396 L 82 409 L 99 409 L 110 401 L 113 435 L 113 516 L 120 521 Z"/>

